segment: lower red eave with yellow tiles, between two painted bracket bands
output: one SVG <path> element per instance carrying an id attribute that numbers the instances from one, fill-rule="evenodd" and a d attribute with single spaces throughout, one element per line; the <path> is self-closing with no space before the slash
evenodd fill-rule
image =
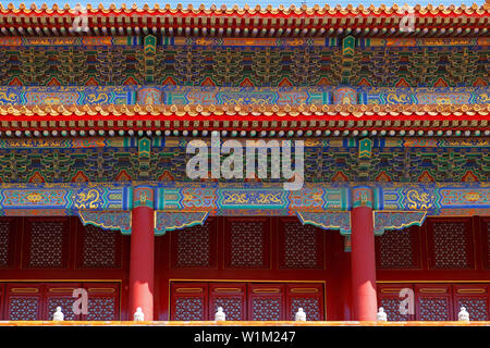
<path id="1" fill-rule="evenodd" d="M 4 136 L 145 133 L 206 135 L 466 135 L 490 134 L 489 104 L 448 105 L 4 105 Z M 169 133 L 169 134 L 167 134 Z M 243 134 L 242 134 L 243 135 Z"/>

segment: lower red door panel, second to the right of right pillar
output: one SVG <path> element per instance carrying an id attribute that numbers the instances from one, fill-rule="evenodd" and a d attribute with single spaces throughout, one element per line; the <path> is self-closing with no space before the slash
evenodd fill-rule
<path id="1" fill-rule="evenodd" d="M 451 285 L 419 284 L 415 286 L 416 320 L 450 321 L 453 318 Z"/>

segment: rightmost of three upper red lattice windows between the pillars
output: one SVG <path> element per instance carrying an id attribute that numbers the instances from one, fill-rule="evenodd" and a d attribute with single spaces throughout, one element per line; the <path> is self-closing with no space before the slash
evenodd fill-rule
<path id="1" fill-rule="evenodd" d="M 281 269 L 323 268 L 322 231 L 302 225 L 297 219 L 280 219 L 278 234 Z"/>

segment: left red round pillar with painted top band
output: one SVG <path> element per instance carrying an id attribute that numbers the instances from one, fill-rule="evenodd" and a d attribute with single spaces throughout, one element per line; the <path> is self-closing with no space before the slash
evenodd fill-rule
<path id="1" fill-rule="evenodd" d="M 155 211 L 150 187 L 136 187 L 133 196 L 130 257 L 130 320 L 138 307 L 145 321 L 154 320 Z"/>

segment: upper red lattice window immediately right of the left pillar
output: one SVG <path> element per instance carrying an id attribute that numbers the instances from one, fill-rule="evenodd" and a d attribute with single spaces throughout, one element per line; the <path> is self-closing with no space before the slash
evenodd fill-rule
<path id="1" fill-rule="evenodd" d="M 211 265 L 210 224 L 175 231 L 177 238 L 176 266 L 208 268 Z"/>

